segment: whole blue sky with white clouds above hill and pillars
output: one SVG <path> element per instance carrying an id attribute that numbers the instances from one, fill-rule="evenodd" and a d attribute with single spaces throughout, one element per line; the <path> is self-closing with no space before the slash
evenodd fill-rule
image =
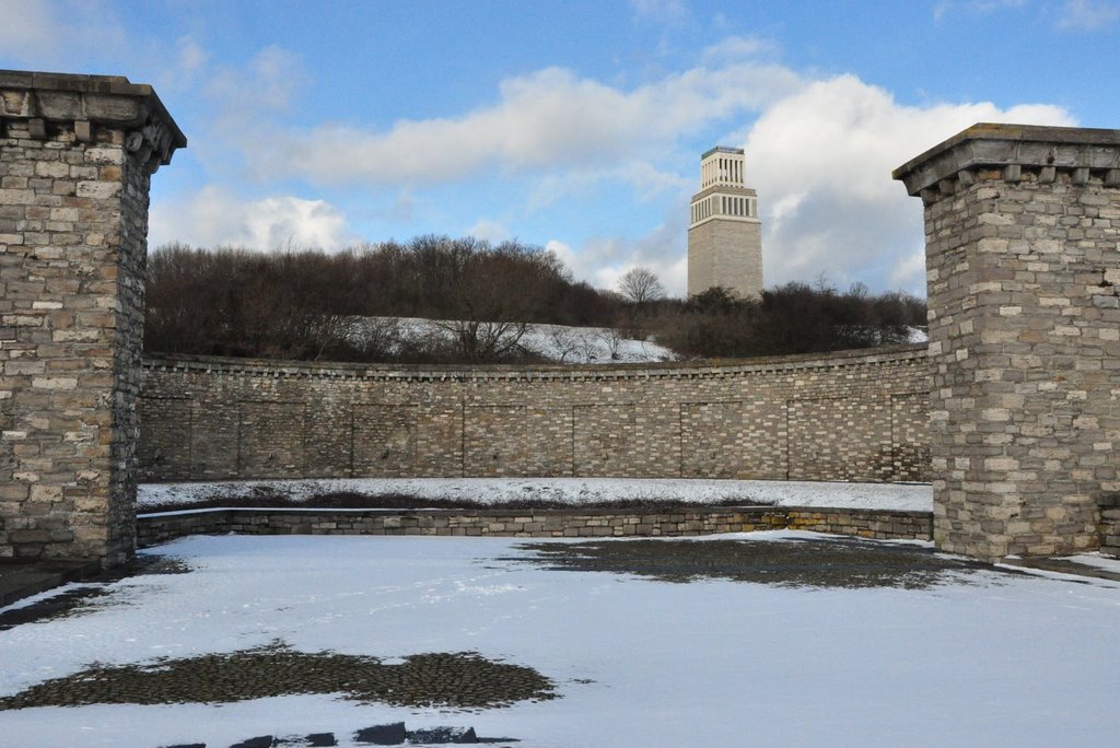
<path id="1" fill-rule="evenodd" d="M 517 239 L 682 294 L 700 153 L 746 148 L 766 284 L 924 293 L 890 170 L 978 121 L 1120 128 L 1120 0 L 0 0 L 0 67 L 150 83 L 150 244 Z"/>

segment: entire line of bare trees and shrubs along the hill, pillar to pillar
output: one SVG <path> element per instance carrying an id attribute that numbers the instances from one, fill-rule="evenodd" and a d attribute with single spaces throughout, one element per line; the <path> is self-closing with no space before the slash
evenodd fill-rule
<path id="1" fill-rule="evenodd" d="M 146 298 L 149 352 L 371 363 L 532 361 L 519 342 L 534 322 L 654 336 L 698 357 L 868 347 L 925 322 L 913 297 L 821 283 L 678 300 L 636 269 L 618 291 L 596 289 L 548 250 L 435 235 L 334 254 L 170 244 L 148 259 Z M 401 335 L 407 317 L 445 335 Z"/>

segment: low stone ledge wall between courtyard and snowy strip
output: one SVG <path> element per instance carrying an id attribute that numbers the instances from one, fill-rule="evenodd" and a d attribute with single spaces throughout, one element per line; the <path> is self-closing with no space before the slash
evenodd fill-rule
<path id="1" fill-rule="evenodd" d="M 930 512 L 819 507 L 650 509 L 254 509 L 142 514 L 140 546 L 187 535 L 447 535 L 502 537 L 681 537 L 809 530 L 876 540 L 931 540 Z"/>

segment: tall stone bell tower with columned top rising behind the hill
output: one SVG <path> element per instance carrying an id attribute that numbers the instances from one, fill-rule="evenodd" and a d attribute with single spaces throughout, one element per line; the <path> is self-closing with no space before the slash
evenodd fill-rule
<path id="1" fill-rule="evenodd" d="M 700 157 L 700 191 L 689 221 L 689 296 L 721 286 L 741 298 L 763 290 L 758 196 L 744 180 L 741 148 L 717 146 Z"/>

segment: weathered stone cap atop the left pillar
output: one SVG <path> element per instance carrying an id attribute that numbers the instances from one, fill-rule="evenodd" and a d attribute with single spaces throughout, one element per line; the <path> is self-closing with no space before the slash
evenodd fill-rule
<path id="1" fill-rule="evenodd" d="M 161 163 L 187 138 L 150 85 L 121 75 L 0 71 L 0 120 L 92 122 L 144 131 Z"/>

